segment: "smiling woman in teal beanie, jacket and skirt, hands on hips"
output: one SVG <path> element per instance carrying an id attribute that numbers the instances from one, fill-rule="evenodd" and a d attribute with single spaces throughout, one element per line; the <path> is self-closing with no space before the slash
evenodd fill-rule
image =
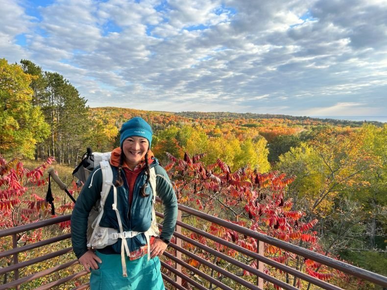
<path id="1" fill-rule="evenodd" d="M 142 118 L 135 117 L 122 124 L 120 133 L 120 147 L 112 151 L 110 159 L 117 201 L 114 202 L 112 187 L 99 225 L 119 229 L 117 213 L 113 209 L 114 203 L 120 213 L 123 230 L 140 234 L 124 238 L 130 251 L 129 255 L 126 254 L 123 258 L 125 261 L 121 259 L 122 239 L 97 251 L 87 248 L 87 220 L 90 211 L 100 198 L 102 188 L 101 170 L 95 169 L 83 186 L 73 209 L 71 218 L 73 251 L 86 271 L 92 272 L 90 277 L 92 290 L 161 290 L 164 289 L 164 283 L 158 257 L 167 248 L 174 231 L 177 217 L 176 195 L 166 171 L 150 151 L 152 129 L 149 124 Z M 148 259 L 146 241 L 149 237 L 145 237 L 144 232 L 149 229 L 152 217 L 153 192 L 149 185 L 149 170 L 153 167 L 156 173 L 156 192 L 163 201 L 165 217 L 160 237 L 150 239 L 150 259 Z M 90 187 L 91 179 L 93 182 Z"/>

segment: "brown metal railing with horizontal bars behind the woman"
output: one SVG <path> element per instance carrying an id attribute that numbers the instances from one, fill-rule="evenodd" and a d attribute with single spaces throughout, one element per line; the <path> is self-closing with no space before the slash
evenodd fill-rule
<path id="1" fill-rule="evenodd" d="M 206 220 L 206 221 L 218 224 L 220 226 L 237 231 L 242 235 L 254 238 L 257 240 L 257 244 L 259 245 L 258 246 L 259 250 L 258 252 L 249 251 L 235 243 L 227 242 L 221 238 L 218 238 L 216 236 L 209 234 L 208 232 L 202 229 L 196 228 L 193 225 L 182 222 L 182 218 L 181 218 L 182 213 L 184 213 L 184 215 L 189 215 L 191 217 L 192 216 L 197 217 L 198 220 Z M 163 217 L 163 215 L 160 213 L 157 213 L 157 215 L 159 217 Z M 186 219 L 189 220 L 190 218 L 186 218 Z M 54 257 L 63 255 L 65 253 L 69 253 L 72 249 L 71 247 L 68 247 L 58 251 L 51 252 L 44 256 L 40 256 L 38 258 L 19 262 L 19 259 L 18 259 L 19 253 L 36 249 L 42 246 L 49 246 L 50 244 L 53 244 L 55 242 L 67 240 L 70 238 L 70 234 L 61 235 L 59 237 L 54 237 L 41 242 L 27 244 L 21 247 L 17 246 L 16 235 L 19 233 L 24 233 L 29 230 L 47 227 L 49 225 L 57 224 L 68 220 L 70 220 L 70 215 L 50 218 L 47 220 L 30 223 L 23 226 L 18 226 L 15 228 L 10 228 L 10 229 L 0 231 L 0 238 L 11 236 L 13 239 L 12 240 L 13 248 L 4 252 L 0 252 L 0 259 L 4 257 L 13 256 L 12 265 L 0 268 L 0 278 L 3 278 L 4 275 L 10 274 L 10 273 L 13 273 L 13 278 L 14 278 L 12 281 L 9 281 L 9 282 L 7 281 L 3 285 L 0 285 L 0 290 L 10 289 L 10 288 L 20 289 L 20 286 L 23 285 L 24 283 L 49 276 L 50 274 L 62 269 L 66 269 L 70 267 L 72 267 L 73 269 L 75 265 L 78 264 L 78 262 L 74 259 L 69 261 L 63 261 L 60 265 L 43 269 L 41 271 L 38 271 L 26 277 L 19 277 L 21 268 L 30 266 L 30 265 L 35 265 L 36 263 L 47 261 Z M 182 228 L 184 228 L 185 235 L 182 234 Z M 237 251 L 241 257 L 242 256 L 248 257 L 250 261 L 254 259 L 257 260 L 258 261 L 257 268 L 253 268 L 247 265 L 246 263 L 243 263 L 241 260 L 234 259 L 224 253 L 218 252 L 214 248 L 211 248 L 200 242 L 192 240 L 191 238 L 189 238 L 190 232 L 195 233 L 197 235 L 201 235 L 205 237 L 208 241 L 213 241 L 213 242 L 222 244 L 230 249 L 233 249 Z M 384 276 L 314 253 L 302 247 L 299 247 L 287 242 L 283 242 L 275 238 L 268 237 L 266 235 L 254 232 L 252 230 L 241 227 L 234 223 L 196 211 L 192 208 L 189 208 L 183 205 L 179 205 L 179 218 L 176 226 L 176 231 L 174 233 L 174 237 L 175 237 L 175 243 L 170 244 L 170 248 L 174 250 L 174 253 L 171 254 L 170 251 L 169 253 L 165 252 L 165 257 L 162 259 L 163 260 L 162 266 L 164 268 L 162 275 L 163 275 L 164 281 L 166 282 L 166 286 L 169 287 L 170 289 L 175 288 L 175 289 L 184 290 L 184 289 L 187 289 L 188 287 L 187 285 L 190 284 L 191 287 L 194 287 L 195 289 L 202 289 L 202 290 L 214 289 L 214 288 L 230 289 L 230 290 L 236 289 L 236 288 L 238 289 L 245 288 L 245 289 L 259 290 L 259 289 L 263 289 L 264 281 L 266 281 L 271 285 L 276 285 L 278 287 L 281 287 L 287 290 L 297 289 L 296 287 L 284 281 L 281 281 L 276 277 L 266 274 L 263 271 L 264 264 L 266 264 L 267 266 L 271 266 L 273 268 L 279 269 L 282 272 L 286 272 L 289 275 L 292 275 L 294 277 L 300 278 L 303 281 L 309 282 L 312 285 L 315 285 L 316 287 L 318 287 L 318 289 L 328 289 L 328 290 L 341 289 L 328 282 L 319 280 L 306 273 L 300 272 L 293 267 L 286 266 L 284 264 L 275 262 L 270 258 L 265 257 L 263 255 L 265 243 L 290 251 L 292 253 L 295 253 L 307 259 L 311 259 L 323 265 L 330 266 L 334 269 L 337 269 L 346 274 L 361 278 L 365 281 L 372 282 L 378 287 L 387 288 L 387 278 Z M 203 259 L 202 257 L 200 257 L 200 255 L 197 255 L 189 250 L 186 250 L 185 248 L 182 247 L 183 242 L 192 244 L 196 249 L 200 249 L 201 253 L 211 254 L 212 257 L 214 258 L 213 262 L 208 262 L 207 259 Z M 184 257 L 184 259 L 182 257 Z M 197 261 L 198 263 L 200 263 L 201 266 L 197 267 L 197 266 L 193 266 L 192 263 L 187 263 L 188 259 L 193 259 Z M 223 260 L 224 262 L 227 263 L 227 265 L 229 265 L 227 269 L 218 266 L 218 263 L 216 262 L 218 261 L 218 259 Z M 173 266 L 171 266 L 171 264 L 173 264 Z M 241 275 L 243 270 L 246 270 L 254 274 L 257 277 L 256 281 L 253 282 L 245 279 L 245 277 Z M 52 289 L 52 288 L 55 288 L 56 286 L 65 284 L 69 281 L 74 281 L 79 277 L 82 277 L 85 275 L 87 275 L 87 273 L 84 270 L 81 270 L 81 271 L 73 270 L 71 275 L 68 275 L 59 280 L 52 281 L 45 285 L 41 285 L 39 288 L 36 288 L 36 289 L 38 290 Z M 80 289 L 87 289 L 88 287 L 89 287 L 88 283 L 84 283 L 73 289 L 80 290 Z"/>

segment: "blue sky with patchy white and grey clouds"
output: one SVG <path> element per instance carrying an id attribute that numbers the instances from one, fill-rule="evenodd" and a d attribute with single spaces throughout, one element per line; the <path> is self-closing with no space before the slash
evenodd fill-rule
<path id="1" fill-rule="evenodd" d="M 0 0 L 0 58 L 90 107 L 387 116 L 387 0 Z"/>

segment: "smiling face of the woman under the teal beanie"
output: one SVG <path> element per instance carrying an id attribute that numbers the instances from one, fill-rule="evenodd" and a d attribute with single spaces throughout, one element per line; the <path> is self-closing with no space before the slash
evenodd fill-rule
<path id="1" fill-rule="evenodd" d="M 127 166 L 133 170 L 144 159 L 148 148 L 149 142 L 144 137 L 132 136 L 126 138 L 122 143 L 122 151 Z"/>

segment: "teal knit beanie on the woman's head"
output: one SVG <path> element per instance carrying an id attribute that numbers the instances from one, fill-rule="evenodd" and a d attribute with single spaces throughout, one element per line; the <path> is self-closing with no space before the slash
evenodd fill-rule
<path id="1" fill-rule="evenodd" d="M 129 121 L 124 122 L 121 126 L 120 134 L 121 148 L 125 139 L 132 136 L 139 136 L 147 139 L 149 142 L 149 148 L 150 144 L 152 143 L 152 128 L 143 118 L 140 117 L 134 117 Z"/>

